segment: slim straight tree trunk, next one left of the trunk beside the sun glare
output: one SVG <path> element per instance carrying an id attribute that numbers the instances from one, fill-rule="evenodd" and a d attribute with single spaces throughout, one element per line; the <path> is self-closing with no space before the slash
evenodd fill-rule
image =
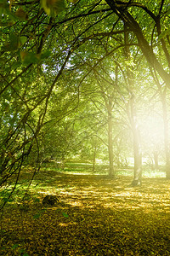
<path id="1" fill-rule="evenodd" d="M 107 106 L 108 111 L 108 151 L 109 151 L 109 176 L 115 177 L 115 169 L 113 166 L 113 134 L 112 134 L 112 108 L 111 102 Z"/>

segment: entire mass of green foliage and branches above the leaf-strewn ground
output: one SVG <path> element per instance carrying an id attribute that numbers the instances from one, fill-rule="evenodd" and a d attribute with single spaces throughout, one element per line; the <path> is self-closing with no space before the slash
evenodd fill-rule
<path id="1" fill-rule="evenodd" d="M 140 127 L 145 103 L 156 112 L 153 99 L 161 102 L 168 177 L 167 1 L 1 0 L 0 15 L 0 184 L 53 155 L 92 160 L 97 148 L 99 157 L 113 151 L 115 164 L 126 160 L 132 96 Z"/>

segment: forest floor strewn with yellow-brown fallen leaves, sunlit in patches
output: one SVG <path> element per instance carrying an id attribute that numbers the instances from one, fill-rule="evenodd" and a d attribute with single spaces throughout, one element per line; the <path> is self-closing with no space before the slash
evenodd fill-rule
<path id="1" fill-rule="evenodd" d="M 144 177 L 65 174 L 43 170 L 23 204 L 1 216 L 0 255 L 170 255 L 170 181 Z M 59 202 L 43 207 L 45 195 Z"/>

